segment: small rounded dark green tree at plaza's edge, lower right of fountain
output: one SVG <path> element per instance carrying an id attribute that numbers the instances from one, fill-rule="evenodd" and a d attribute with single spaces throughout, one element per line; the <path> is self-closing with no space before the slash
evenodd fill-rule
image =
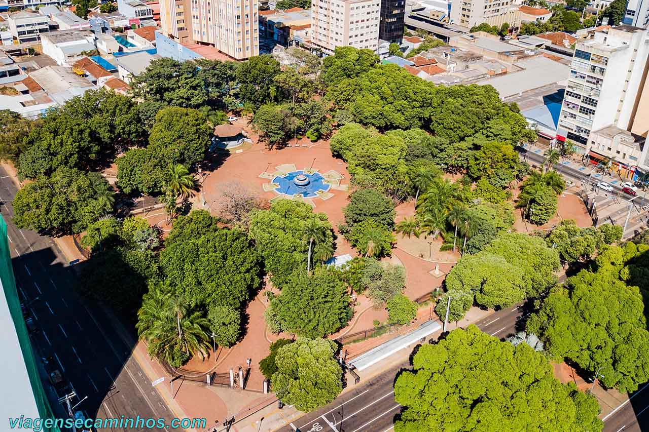
<path id="1" fill-rule="evenodd" d="M 343 208 L 345 222 L 350 227 L 373 219 L 388 229 L 395 225 L 395 206 L 382 193 L 374 189 L 359 189 L 349 196 L 349 204 Z"/>

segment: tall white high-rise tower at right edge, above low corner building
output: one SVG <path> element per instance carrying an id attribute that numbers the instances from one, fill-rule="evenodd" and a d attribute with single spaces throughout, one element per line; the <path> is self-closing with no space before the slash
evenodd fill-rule
<path id="1" fill-rule="evenodd" d="M 570 64 L 557 139 L 570 139 L 577 152 L 585 154 L 592 144 L 591 132 L 606 126 L 642 130 L 640 123 L 646 117 L 646 107 L 640 102 L 641 95 L 646 93 L 648 58 L 649 34 L 639 27 L 619 25 L 595 32 L 591 40 L 578 42 Z"/>

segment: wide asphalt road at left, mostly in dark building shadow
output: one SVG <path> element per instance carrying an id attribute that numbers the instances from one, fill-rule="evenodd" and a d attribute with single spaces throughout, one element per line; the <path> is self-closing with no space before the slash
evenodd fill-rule
<path id="1" fill-rule="evenodd" d="M 77 393 L 72 404 L 92 418 L 174 417 L 128 346 L 99 307 L 73 290 L 76 272 L 49 237 L 19 230 L 11 221 L 17 188 L 0 167 L 1 211 L 8 225 L 12 264 L 21 301 L 29 306 L 38 331 L 32 335 L 36 361 L 53 357 Z M 42 369 L 42 368 L 41 368 Z M 56 416 L 65 416 L 56 394 L 44 383 Z M 86 398 L 87 396 L 87 398 Z M 85 400 L 83 400 L 86 398 Z M 81 402 L 82 401 L 82 402 Z M 19 413 L 17 413 L 17 416 Z M 116 427 L 102 431 L 147 431 Z M 165 430 L 165 429 L 161 429 Z M 167 431 L 169 429 L 166 429 Z"/>

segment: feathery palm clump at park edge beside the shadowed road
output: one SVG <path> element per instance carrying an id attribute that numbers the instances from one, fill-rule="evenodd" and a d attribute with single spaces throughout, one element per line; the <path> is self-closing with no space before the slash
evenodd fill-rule
<path id="1" fill-rule="evenodd" d="M 147 342 L 149 355 L 182 366 L 193 355 L 205 358 L 210 350 L 209 321 L 192 311 L 182 298 L 152 287 L 138 311 L 138 336 Z"/>

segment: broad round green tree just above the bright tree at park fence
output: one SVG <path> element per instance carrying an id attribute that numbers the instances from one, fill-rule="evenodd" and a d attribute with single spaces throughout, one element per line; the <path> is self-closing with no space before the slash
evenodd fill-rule
<path id="1" fill-rule="evenodd" d="M 312 275 L 297 270 L 281 286 L 271 309 L 282 330 L 306 337 L 325 337 L 347 325 L 352 317 L 347 285 L 327 267 Z"/>

